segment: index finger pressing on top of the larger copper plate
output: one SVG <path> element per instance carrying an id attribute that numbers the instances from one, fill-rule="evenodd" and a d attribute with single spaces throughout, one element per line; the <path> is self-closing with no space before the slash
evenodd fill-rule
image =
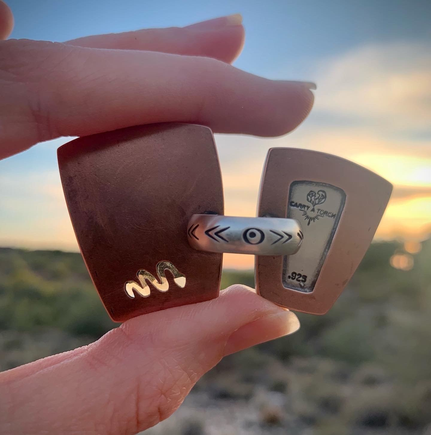
<path id="1" fill-rule="evenodd" d="M 267 80 L 205 57 L 1 44 L 0 157 L 58 136 L 168 121 L 277 136 L 313 104 L 309 84 Z"/>

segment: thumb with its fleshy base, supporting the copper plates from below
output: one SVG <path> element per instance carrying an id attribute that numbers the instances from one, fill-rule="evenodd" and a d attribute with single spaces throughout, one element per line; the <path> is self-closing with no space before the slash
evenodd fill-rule
<path id="1" fill-rule="evenodd" d="M 0 374 L 10 393 L 0 396 L 0 432 L 140 432 L 172 414 L 224 355 L 298 328 L 291 311 L 239 285 L 130 319 L 89 346 Z"/>

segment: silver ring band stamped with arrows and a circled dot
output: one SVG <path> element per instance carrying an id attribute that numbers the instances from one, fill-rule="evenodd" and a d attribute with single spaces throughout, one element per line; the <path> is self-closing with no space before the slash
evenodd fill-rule
<path id="1" fill-rule="evenodd" d="M 187 225 L 187 239 L 198 251 L 291 255 L 303 238 L 298 221 L 287 218 L 194 214 Z"/>

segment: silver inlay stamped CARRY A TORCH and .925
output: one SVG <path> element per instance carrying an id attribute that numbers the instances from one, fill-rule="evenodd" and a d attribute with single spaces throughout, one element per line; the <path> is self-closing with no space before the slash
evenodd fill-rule
<path id="1" fill-rule="evenodd" d="M 314 290 L 335 230 L 346 194 L 339 187 L 313 181 L 294 181 L 289 191 L 287 218 L 301 223 L 301 249 L 284 257 L 283 285 L 297 291 Z"/>

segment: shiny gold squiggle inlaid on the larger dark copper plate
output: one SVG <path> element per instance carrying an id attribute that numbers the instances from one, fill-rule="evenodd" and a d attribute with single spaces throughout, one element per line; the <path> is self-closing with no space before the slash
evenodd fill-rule
<path id="1" fill-rule="evenodd" d="M 124 289 L 130 298 L 135 297 L 133 291 L 136 291 L 141 296 L 144 296 L 144 298 L 150 296 L 150 287 L 147 284 L 147 280 L 150 281 L 150 283 L 153 284 L 158 291 L 168 291 L 169 283 L 166 279 L 164 272 L 165 270 L 170 271 L 170 273 L 174 275 L 174 283 L 177 284 L 178 287 L 184 288 L 186 285 L 186 277 L 180 271 L 178 271 L 178 269 L 170 261 L 159 261 L 157 263 L 156 269 L 159 280 L 154 278 L 154 275 L 150 274 L 150 272 L 146 271 L 145 269 L 141 269 L 137 273 L 140 284 L 137 284 L 135 281 L 126 282 Z"/>

